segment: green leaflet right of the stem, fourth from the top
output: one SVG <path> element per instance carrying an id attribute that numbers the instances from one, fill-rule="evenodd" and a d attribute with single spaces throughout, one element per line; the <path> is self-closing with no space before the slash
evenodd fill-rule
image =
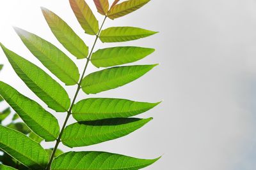
<path id="1" fill-rule="evenodd" d="M 150 71 L 154 65 L 112 67 L 88 74 L 83 79 L 82 89 L 86 94 L 97 94 L 121 87 L 134 81 Z"/>

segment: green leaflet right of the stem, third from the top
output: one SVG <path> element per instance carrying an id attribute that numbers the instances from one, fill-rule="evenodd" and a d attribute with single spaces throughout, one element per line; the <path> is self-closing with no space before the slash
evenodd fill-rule
<path id="1" fill-rule="evenodd" d="M 150 55 L 153 48 L 142 48 L 137 46 L 118 46 L 97 50 L 92 55 L 92 64 L 96 67 L 110 67 L 136 62 Z"/>

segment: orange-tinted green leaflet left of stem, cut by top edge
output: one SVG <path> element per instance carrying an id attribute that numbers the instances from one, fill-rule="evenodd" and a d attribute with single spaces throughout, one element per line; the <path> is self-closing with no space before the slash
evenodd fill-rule
<path id="1" fill-rule="evenodd" d="M 69 0 L 69 2 L 86 34 L 96 35 L 99 31 L 99 22 L 88 4 L 84 0 Z"/>

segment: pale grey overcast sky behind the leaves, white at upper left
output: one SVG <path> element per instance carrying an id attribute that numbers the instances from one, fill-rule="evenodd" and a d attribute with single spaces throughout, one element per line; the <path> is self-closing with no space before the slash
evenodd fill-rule
<path id="1" fill-rule="evenodd" d="M 96 11 L 92 0 L 88 3 Z M 1 43 L 42 67 L 13 31 L 12 26 L 17 26 L 42 36 L 70 55 L 52 35 L 40 6 L 60 15 L 86 44 L 92 45 L 93 37 L 83 34 L 67 0 L 1 1 Z M 96 16 L 101 22 L 102 16 Z M 98 97 L 164 102 L 140 115 L 154 120 L 139 131 L 75 150 L 101 150 L 147 159 L 163 155 L 159 162 L 145 168 L 150 170 L 254 170 L 256 1 L 152 0 L 131 15 L 108 20 L 104 28 L 122 25 L 160 33 L 128 43 L 98 43 L 97 48 L 116 45 L 156 48 L 154 54 L 136 64 L 160 65 L 140 80 L 102 92 Z M 83 67 L 83 62 L 70 57 L 80 69 Z M 5 65 L 1 81 L 45 106 L 19 80 L 1 50 L 0 63 Z M 96 70 L 90 66 L 88 73 Z M 74 90 L 75 87 L 67 88 L 70 96 Z M 84 97 L 88 96 L 81 92 L 78 100 Z M 63 122 L 65 114 L 52 113 Z M 52 145 L 44 143 L 46 147 Z M 61 148 L 69 150 L 62 145 Z"/>

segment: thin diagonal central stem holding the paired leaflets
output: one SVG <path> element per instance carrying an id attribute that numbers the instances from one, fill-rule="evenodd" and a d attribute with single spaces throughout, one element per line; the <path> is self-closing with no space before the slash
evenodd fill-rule
<path id="1" fill-rule="evenodd" d="M 90 59 L 91 59 L 91 57 L 92 57 L 93 50 L 94 50 L 94 48 L 95 48 L 95 45 L 96 45 L 96 43 L 97 43 L 97 40 L 99 39 L 99 35 L 100 35 L 100 32 L 101 32 L 101 30 L 102 30 L 102 27 L 103 27 L 103 25 L 104 25 L 104 23 L 105 23 L 105 21 L 106 21 L 106 18 L 107 18 L 107 16 L 105 16 L 105 18 L 104 18 L 104 20 L 103 20 L 103 22 L 102 22 L 102 24 L 101 24 L 101 26 L 100 26 L 99 32 L 98 32 L 98 34 L 96 35 L 95 41 L 94 41 L 93 46 L 92 46 L 92 50 L 91 50 L 89 56 L 86 58 L 87 61 L 86 61 L 86 64 L 85 64 L 85 66 L 84 66 L 84 70 L 83 70 L 83 73 L 82 73 L 81 78 L 80 78 L 80 80 L 79 80 L 79 83 L 77 84 L 76 94 L 75 94 L 74 99 L 73 99 L 73 101 L 72 101 L 72 103 L 71 103 L 71 105 L 70 105 L 69 110 L 67 111 L 67 117 L 65 118 L 65 122 L 64 122 L 64 124 L 63 124 L 63 126 L 62 126 L 62 128 L 61 128 L 60 135 L 58 136 L 58 139 L 56 139 L 56 145 L 54 146 L 54 149 L 52 150 L 51 158 L 50 158 L 49 163 L 48 163 L 48 165 L 47 165 L 47 167 L 46 167 L 46 170 L 50 170 L 50 169 L 51 169 L 52 160 L 54 159 L 54 155 L 55 155 L 55 153 L 56 153 L 56 150 L 58 149 L 58 146 L 60 145 L 61 136 L 62 136 L 63 131 L 64 131 L 66 125 L 67 125 L 68 118 L 70 117 L 70 115 L 71 115 L 71 113 L 72 113 L 71 111 L 72 111 L 72 108 L 73 108 L 74 103 L 75 103 L 75 101 L 76 101 L 76 98 L 77 98 L 77 96 L 78 96 L 78 93 L 79 93 L 79 91 L 80 91 L 80 89 L 81 89 L 81 83 L 82 83 L 82 81 L 83 81 L 85 71 L 86 71 L 86 69 L 87 69 L 87 67 L 88 67 L 88 64 L 89 64 L 89 62 L 90 62 Z"/>

